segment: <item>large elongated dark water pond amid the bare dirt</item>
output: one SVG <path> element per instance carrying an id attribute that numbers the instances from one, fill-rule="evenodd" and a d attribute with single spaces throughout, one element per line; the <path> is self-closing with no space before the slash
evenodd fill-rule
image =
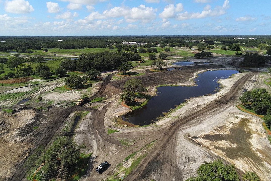
<path id="1" fill-rule="evenodd" d="M 147 105 L 122 116 L 122 119 L 135 125 L 148 125 L 156 122 L 157 117 L 163 116 L 163 112 L 168 112 L 190 97 L 214 94 L 217 92 L 219 79 L 226 79 L 232 74 L 237 74 L 235 70 L 207 71 L 198 74 L 195 79 L 196 85 L 193 87 L 158 87 L 157 96 L 153 96 Z"/>

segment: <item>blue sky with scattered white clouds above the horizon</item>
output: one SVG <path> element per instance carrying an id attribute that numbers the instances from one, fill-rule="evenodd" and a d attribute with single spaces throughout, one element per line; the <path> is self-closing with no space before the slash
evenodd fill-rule
<path id="1" fill-rule="evenodd" d="M 0 36 L 271 34 L 270 0 L 0 0 Z"/>

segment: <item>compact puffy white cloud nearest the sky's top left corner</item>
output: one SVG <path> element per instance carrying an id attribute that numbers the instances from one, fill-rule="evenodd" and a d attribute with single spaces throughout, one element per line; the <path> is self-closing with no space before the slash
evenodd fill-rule
<path id="1" fill-rule="evenodd" d="M 34 8 L 33 6 L 29 4 L 28 1 L 12 0 L 12 1 L 5 1 L 5 11 L 21 14 L 21 13 L 30 13 L 34 11 Z"/>

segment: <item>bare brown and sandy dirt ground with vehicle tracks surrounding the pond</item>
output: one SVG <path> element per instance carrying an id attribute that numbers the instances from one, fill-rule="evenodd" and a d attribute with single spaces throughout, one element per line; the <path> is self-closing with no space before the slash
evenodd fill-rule
<path id="1" fill-rule="evenodd" d="M 207 69 L 233 69 L 228 64 L 233 58 L 215 57 L 209 60 L 215 63 L 183 66 L 165 72 L 147 70 L 145 75 L 137 78 L 151 93 L 156 85 L 161 84 L 193 85 L 191 79 L 196 73 Z M 89 113 L 69 134 L 78 144 L 86 144 L 85 152 L 93 153 L 91 166 L 81 180 L 104 180 L 112 176 L 118 172 L 117 165 L 135 151 L 138 152 L 137 157 L 147 155 L 124 180 L 185 180 L 196 175 L 200 164 L 215 158 L 234 164 L 240 175 L 245 171 L 254 171 L 262 180 L 271 179 L 271 147 L 261 126 L 262 120 L 235 108 L 243 89 L 266 86 L 258 72 L 252 70 L 222 80 L 223 86 L 218 93 L 189 99 L 185 106 L 156 124 L 140 128 L 125 128 L 114 122 L 118 116 L 130 111 L 121 106 L 119 93 L 131 77 L 110 81 L 113 75 L 97 85 L 96 94 L 89 98 L 90 101 L 103 96 L 108 98 L 105 101 L 85 103 L 83 106 L 50 106 L 44 111 L 24 108 L 15 113 L 16 117 L 2 115 L 0 155 L 10 156 L 0 156 L 0 180 L 24 180 L 25 158 L 38 145 L 49 145 L 55 136 L 62 134 L 64 123 L 75 111 Z M 51 90 L 54 85 L 46 90 Z M 46 98 L 49 99 L 53 95 L 46 94 L 46 90 L 42 93 L 49 95 Z M 34 126 L 39 128 L 33 130 Z M 108 128 L 119 132 L 108 135 Z M 123 144 L 124 140 L 127 144 Z M 145 148 L 151 142 L 152 146 Z M 103 161 L 108 161 L 110 167 L 97 174 L 94 168 Z M 131 166 L 131 160 L 124 166 Z"/>

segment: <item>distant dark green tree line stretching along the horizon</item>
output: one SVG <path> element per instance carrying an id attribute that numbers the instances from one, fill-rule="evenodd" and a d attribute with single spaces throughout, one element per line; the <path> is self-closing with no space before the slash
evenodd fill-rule
<path id="1" fill-rule="evenodd" d="M 122 41 L 146 43 L 147 47 L 144 45 L 145 48 L 155 47 L 156 45 L 161 45 L 162 48 L 167 45 L 170 47 L 189 46 L 189 43 L 185 42 L 187 40 L 203 40 L 206 46 L 214 45 L 214 42 L 220 42 L 225 46 L 239 43 L 239 45 L 246 47 L 260 46 L 263 50 L 267 47 L 262 44 L 271 45 L 271 36 L 269 35 L 257 35 L 257 40 L 250 40 L 250 36 L 242 36 L 242 38 L 246 39 L 233 40 L 235 37 L 236 36 L 0 36 L 0 41 L 4 41 L 0 42 L 0 51 L 15 49 L 18 53 L 26 53 L 29 51 L 28 49 L 40 50 L 42 48 L 106 48 L 115 43 L 121 45 Z M 63 41 L 58 42 L 57 40 L 59 39 Z M 195 41 L 193 46 L 196 46 L 198 43 L 199 42 Z"/>

